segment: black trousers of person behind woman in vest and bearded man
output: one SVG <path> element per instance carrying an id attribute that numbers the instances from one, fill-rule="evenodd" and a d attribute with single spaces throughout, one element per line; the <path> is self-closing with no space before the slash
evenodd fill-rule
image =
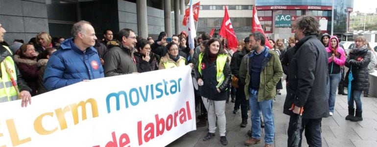
<path id="1" fill-rule="evenodd" d="M 240 85 L 239 88 L 236 88 L 235 110 L 239 109 L 239 106 L 241 106 L 241 117 L 242 119 L 247 119 L 249 117 L 247 115 L 247 106 L 249 105 L 249 101 L 246 101 L 245 90 L 243 87 L 243 85 Z"/>

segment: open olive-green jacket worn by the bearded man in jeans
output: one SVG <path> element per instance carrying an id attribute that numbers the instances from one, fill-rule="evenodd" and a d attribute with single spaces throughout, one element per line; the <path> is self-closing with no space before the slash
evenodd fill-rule
<path id="1" fill-rule="evenodd" d="M 268 49 L 265 47 L 265 49 Z M 246 100 L 249 100 L 250 90 L 250 59 L 254 57 L 254 52 L 252 51 L 245 55 L 241 61 L 239 67 L 239 80 L 245 85 L 245 96 Z M 282 63 L 280 63 L 279 55 L 273 51 L 268 50 L 267 52 L 262 52 L 264 54 L 262 69 L 260 72 L 260 83 L 258 92 L 258 102 L 264 100 L 273 99 L 276 96 L 276 84 L 283 77 Z"/>

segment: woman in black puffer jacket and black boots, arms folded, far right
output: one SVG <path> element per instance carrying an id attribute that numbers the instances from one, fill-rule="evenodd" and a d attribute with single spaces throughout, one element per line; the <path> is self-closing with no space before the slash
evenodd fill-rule
<path id="1" fill-rule="evenodd" d="M 345 64 L 350 68 L 346 77 L 349 76 L 350 71 L 352 71 L 353 74 L 351 93 L 349 93 L 351 97 L 348 101 L 348 115 L 346 116 L 346 120 L 358 122 L 363 120 L 361 92 L 369 90 L 368 64 L 371 62 L 372 53 L 368 49 L 368 41 L 364 36 L 356 37 L 354 42 L 355 46 L 348 54 Z M 346 78 L 346 83 L 348 82 L 348 78 Z M 354 103 L 356 103 L 356 110 Z"/>

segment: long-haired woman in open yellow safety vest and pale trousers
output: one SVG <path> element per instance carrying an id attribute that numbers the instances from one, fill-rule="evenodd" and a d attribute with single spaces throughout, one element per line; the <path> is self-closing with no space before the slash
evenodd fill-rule
<path id="1" fill-rule="evenodd" d="M 212 38 L 205 45 L 204 52 L 200 53 L 198 60 L 195 77 L 198 79 L 203 104 L 208 111 L 209 125 L 209 132 L 203 140 L 207 141 L 215 136 L 217 117 L 220 142 L 227 145 L 225 103 L 228 99 L 227 87 L 232 77 L 228 54 L 221 46 L 220 40 Z"/>

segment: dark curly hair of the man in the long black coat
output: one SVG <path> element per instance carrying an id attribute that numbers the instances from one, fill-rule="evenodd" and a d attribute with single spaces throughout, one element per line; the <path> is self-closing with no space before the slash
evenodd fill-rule
<path id="1" fill-rule="evenodd" d="M 303 30 L 305 36 L 309 35 L 319 35 L 319 21 L 315 17 L 312 16 L 304 16 L 300 17 L 296 20 L 296 25 L 294 26 Z"/>

